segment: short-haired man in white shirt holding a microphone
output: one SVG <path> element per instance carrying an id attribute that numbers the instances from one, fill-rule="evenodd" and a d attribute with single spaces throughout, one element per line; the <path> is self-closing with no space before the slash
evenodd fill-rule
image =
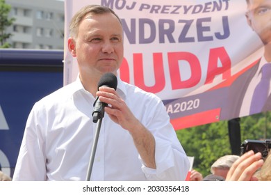
<path id="1" fill-rule="evenodd" d="M 69 26 L 67 46 L 79 77 L 37 102 L 28 116 L 13 180 L 85 180 L 97 124 L 95 97 L 107 103 L 90 180 L 185 180 L 188 158 L 161 100 L 120 80 L 120 18 L 85 6 Z M 117 90 L 98 82 L 117 76 Z"/>

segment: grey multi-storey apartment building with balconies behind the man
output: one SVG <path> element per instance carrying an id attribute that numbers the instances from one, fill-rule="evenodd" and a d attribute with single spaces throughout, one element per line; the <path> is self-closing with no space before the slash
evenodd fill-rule
<path id="1" fill-rule="evenodd" d="M 12 6 L 8 40 L 13 48 L 64 49 L 64 1 L 6 0 Z"/>

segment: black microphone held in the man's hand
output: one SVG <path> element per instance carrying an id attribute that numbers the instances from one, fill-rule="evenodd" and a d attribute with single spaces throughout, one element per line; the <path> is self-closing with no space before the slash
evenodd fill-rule
<path id="1" fill-rule="evenodd" d="M 117 77 L 111 73 L 107 72 L 103 76 L 101 76 L 101 79 L 99 80 L 98 83 L 98 91 L 100 86 L 108 86 L 110 88 L 114 88 L 115 90 L 117 89 Z M 93 122 L 97 123 L 97 121 L 101 118 L 104 118 L 104 107 L 107 107 L 108 104 L 101 102 L 99 100 L 99 97 L 95 100 L 93 104 L 93 111 L 92 111 L 92 116 L 93 116 Z"/>

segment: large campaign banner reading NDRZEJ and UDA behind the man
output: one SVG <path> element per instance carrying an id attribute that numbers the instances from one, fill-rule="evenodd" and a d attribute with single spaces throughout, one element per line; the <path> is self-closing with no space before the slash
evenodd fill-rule
<path id="1" fill-rule="evenodd" d="M 76 59 L 67 49 L 69 22 L 88 4 L 108 6 L 119 15 L 124 60 L 118 74 L 158 95 L 175 130 L 270 109 L 265 104 L 250 110 L 267 61 L 253 23 L 270 15 L 265 6 L 245 0 L 65 1 L 64 84 L 78 75 Z"/>

